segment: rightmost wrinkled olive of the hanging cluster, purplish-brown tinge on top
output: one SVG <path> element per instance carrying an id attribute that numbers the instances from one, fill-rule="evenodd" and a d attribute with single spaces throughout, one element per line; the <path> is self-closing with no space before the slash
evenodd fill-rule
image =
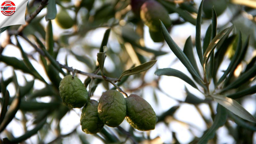
<path id="1" fill-rule="evenodd" d="M 156 113 L 151 105 L 136 94 L 126 100 L 126 121 L 135 129 L 149 131 L 155 129 Z"/>

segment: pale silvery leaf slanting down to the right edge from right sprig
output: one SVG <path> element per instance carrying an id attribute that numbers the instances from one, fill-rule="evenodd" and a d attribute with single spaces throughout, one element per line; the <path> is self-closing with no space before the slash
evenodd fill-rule
<path id="1" fill-rule="evenodd" d="M 213 97 L 214 101 L 218 102 L 220 105 L 227 108 L 235 115 L 250 122 L 256 123 L 256 119 L 248 111 L 246 111 L 238 102 L 236 102 L 236 100 L 219 94 L 212 94 L 211 96 Z"/>

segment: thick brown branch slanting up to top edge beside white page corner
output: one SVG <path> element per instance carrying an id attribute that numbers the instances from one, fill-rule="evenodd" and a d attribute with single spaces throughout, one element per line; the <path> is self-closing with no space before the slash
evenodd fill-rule
<path id="1" fill-rule="evenodd" d="M 37 9 L 30 14 L 30 16 L 28 17 L 28 19 L 26 20 L 26 24 L 25 25 L 21 25 L 16 31 L 10 31 L 9 35 L 18 35 L 21 33 L 21 31 L 28 26 L 28 24 L 30 23 L 31 20 L 33 20 L 37 14 L 39 12 L 41 12 L 41 10 L 48 4 L 48 0 L 42 0 L 41 4 L 37 7 Z"/>

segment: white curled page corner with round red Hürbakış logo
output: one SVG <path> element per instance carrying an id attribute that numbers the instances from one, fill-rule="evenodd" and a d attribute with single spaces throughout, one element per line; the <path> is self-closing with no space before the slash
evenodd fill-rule
<path id="1" fill-rule="evenodd" d="M 0 28 L 24 25 L 28 0 L 0 0 Z"/>

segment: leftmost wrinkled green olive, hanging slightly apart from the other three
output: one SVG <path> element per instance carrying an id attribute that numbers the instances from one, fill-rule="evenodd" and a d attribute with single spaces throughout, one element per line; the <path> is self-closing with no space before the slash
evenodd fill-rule
<path id="1" fill-rule="evenodd" d="M 60 97 L 69 108 L 81 108 L 88 101 L 88 92 L 79 78 L 65 76 L 60 81 Z"/>

